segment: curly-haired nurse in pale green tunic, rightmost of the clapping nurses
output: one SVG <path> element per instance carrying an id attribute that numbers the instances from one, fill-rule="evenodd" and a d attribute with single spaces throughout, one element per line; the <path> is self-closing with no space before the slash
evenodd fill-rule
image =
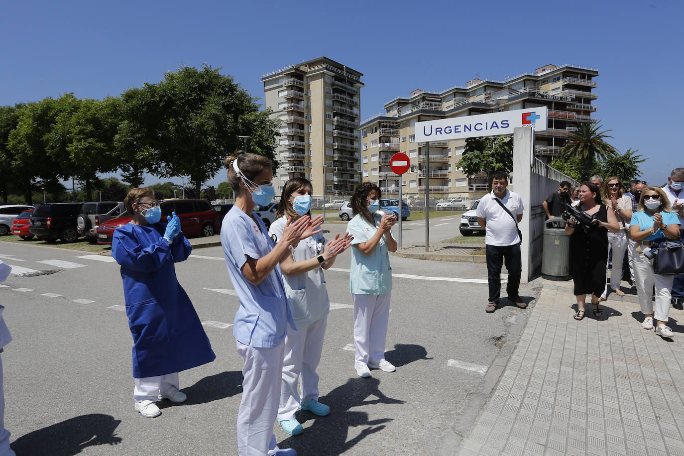
<path id="1" fill-rule="evenodd" d="M 394 372 L 385 360 L 385 339 L 389 323 L 389 300 L 392 291 L 392 268 L 389 254 L 396 252 L 397 241 L 391 229 L 396 218 L 380 218 L 380 189 L 370 182 L 361 183 L 350 201 L 354 218 L 347 232 L 354 237 L 350 290 L 354 298 L 355 364 L 359 377 L 370 377 L 369 369 Z"/>

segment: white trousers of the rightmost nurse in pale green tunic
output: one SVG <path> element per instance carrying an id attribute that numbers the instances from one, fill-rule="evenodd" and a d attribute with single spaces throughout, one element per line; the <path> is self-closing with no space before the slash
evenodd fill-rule
<path id="1" fill-rule="evenodd" d="M 384 295 L 352 294 L 354 298 L 355 362 L 378 363 L 384 360 L 390 295 L 391 293 Z"/>

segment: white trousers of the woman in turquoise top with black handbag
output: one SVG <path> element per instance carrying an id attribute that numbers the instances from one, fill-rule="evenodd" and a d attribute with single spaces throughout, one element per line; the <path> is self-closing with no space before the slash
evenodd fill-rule
<path id="1" fill-rule="evenodd" d="M 651 261 L 643 254 L 634 254 L 634 273 L 637 284 L 637 295 L 642 313 L 646 315 L 653 313 L 653 300 L 651 290 L 655 285 L 655 314 L 656 320 L 667 323 L 670 314 L 670 290 L 674 276 L 661 276 L 653 273 Z"/>

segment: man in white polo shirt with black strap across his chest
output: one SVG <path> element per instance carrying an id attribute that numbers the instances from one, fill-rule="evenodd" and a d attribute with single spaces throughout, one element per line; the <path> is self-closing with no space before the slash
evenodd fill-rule
<path id="1" fill-rule="evenodd" d="M 484 243 L 489 274 L 489 302 L 485 308 L 487 313 L 494 312 L 499 306 L 503 263 L 508 270 L 508 299 L 521 309 L 527 307 L 518 295 L 523 269 L 518 222 L 523 219 L 523 199 L 506 187 L 508 176 L 503 172 L 496 172 L 492 176 L 492 192 L 483 196 L 477 204 L 477 222 L 485 229 Z"/>

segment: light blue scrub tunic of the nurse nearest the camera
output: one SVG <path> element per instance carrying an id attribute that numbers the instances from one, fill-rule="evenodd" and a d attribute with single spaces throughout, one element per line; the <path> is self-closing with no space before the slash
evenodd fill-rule
<path id="1" fill-rule="evenodd" d="M 233 206 L 223 219 L 221 245 L 228 275 L 240 301 L 233 321 L 233 336 L 243 345 L 271 348 L 285 340 L 287 323 L 293 330 L 296 327 L 287 305 L 280 265 L 256 286 L 240 270 L 248 257 L 257 260 L 276 246 L 261 219 L 255 218 L 256 222 Z"/>

